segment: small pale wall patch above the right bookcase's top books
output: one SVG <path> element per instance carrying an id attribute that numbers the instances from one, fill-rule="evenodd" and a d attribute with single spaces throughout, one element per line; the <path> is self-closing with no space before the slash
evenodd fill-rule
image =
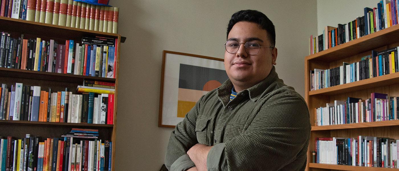
<path id="1" fill-rule="evenodd" d="M 364 8 L 377 7 L 379 0 L 317 0 L 317 35 L 326 26 L 348 24 L 356 17 L 364 16 Z"/>

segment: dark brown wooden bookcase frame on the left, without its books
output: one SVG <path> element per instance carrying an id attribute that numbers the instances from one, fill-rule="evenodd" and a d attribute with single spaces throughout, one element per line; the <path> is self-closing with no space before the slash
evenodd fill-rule
<path id="1" fill-rule="evenodd" d="M 53 39 L 59 43 L 65 43 L 65 40 L 73 39 L 75 43 L 81 43 L 82 37 L 111 37 L 118 39 L 117 68 L 114 71 L 115 79 L 91 77 L 82 75 L 72 75 L 63 73 L 49 73 L 43 71 L 28 71 L 21 69 L 0 68 L 0 84 L 8 86 L 15 83 L 23 83 L 30 86 L 41 86 L 41 90 L 48 90 L 51 87 L 52 92 L 64 91 L 69 88 L 73 94 L 77 93 L 77 86 L 83 85 L 83 80 L 104 81 L 115 83 L 115 101 L 113 124 L 87 124 L 87 123 L 59 123 L 59 122 L 32 122 L 32 121 L 14 121 L 0 120 L 0 136 L 13 136 L 14 138 L 24 138 L 25 134 L 31 136 L 41 136 L 42 138 L 60 138 L 65 132 L 71 131 L 71 128 L 89 128 L 99 130 L 99 139 L 112 142 L 112 170 L 115 170 L 115 149 L 116 128 L 117 128 L 117 96 L 118 96 L 118 74 L 120 60 L 120 34 L 105 33 L 100 31 L 91 31 L 86 29 L 70 28 L 26 20 L 0 17 L 0 32 L 11 33 L 12 37 L 19 37 L 24 34 L 24 39 L 40 37 L 42 40 L 49 41 Z M 124 37 L 122 37 L 124 38 Z M 43 140 L 43 139 L 42 139 Z M 44 140 L 43 140 L 44 141 Z"/>

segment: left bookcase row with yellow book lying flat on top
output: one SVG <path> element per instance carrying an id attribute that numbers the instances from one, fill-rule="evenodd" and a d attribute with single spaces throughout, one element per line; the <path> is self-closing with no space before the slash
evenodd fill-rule
<path id="1" fill-rule="evenodd" d="M 45 91 L 22 83 L 11 89 L 2 84 L 0 120 L 113 124 L 115 89 L 94 87 L 95 81 L 85 82 L 86 86 L 77 87 L 82 94 L 73 94 L 69 88 L 53 92 L 51 88 Z"/>

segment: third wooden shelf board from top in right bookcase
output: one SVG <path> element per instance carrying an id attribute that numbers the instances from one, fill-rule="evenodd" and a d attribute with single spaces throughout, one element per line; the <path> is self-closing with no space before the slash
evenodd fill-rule
<path id="1" fill-rule="evenodd" d="M 364 123 L 356 123 L 356 124 L 312 126 L 312 131 L 370 128 L 370 127 L 381 127 L 381 126 L 399 126 L 399 120 L 364 122 Z"/>

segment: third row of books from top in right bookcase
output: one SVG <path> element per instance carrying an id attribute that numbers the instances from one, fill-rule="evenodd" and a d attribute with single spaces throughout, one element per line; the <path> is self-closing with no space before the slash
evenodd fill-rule
<path id="1" fill-rule="evenodd" d="M 399 97 L 388 94 L 371 93 L 371 98 L 348 97 L 347 100 L 334 100 L 326 107 L 314 109 L 315 125 L 338 125 L 361 122 L 397 120 L 399 114 Z"/>

